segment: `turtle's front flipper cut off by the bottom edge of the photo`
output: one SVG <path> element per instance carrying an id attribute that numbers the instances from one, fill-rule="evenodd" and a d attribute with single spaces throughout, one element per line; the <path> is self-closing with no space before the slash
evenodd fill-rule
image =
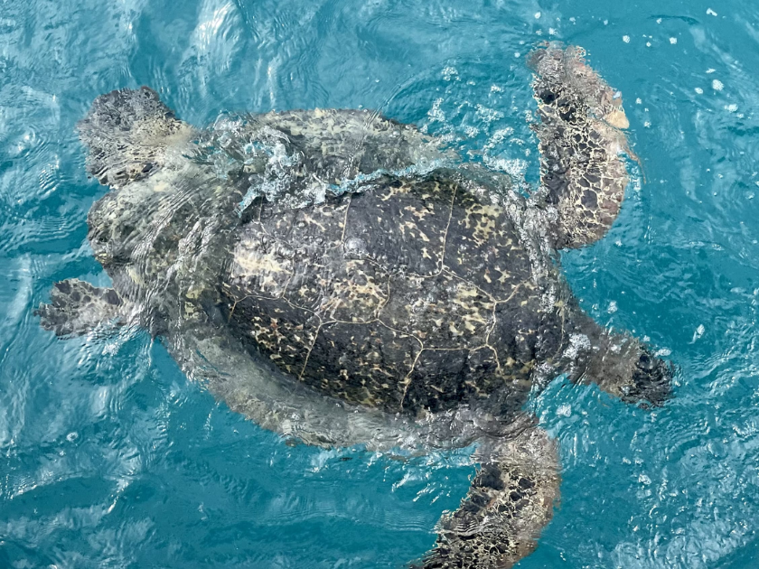
<path id="1" fill-rule="evenodd" d="M 440 519 L 435 548 L 415 567 L 444 569 L 511 567 L 537 546 L 558 499 L 556 444 L 529 427 L 516 438 L 489 439 L 457 510 Z"/>

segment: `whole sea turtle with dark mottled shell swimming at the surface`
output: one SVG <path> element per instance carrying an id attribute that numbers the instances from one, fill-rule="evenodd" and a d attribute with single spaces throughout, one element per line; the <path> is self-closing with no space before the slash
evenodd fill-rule
<path id="1" fill-rule="evenodd" d="M 231 409 L 305 443 L 464 447 L 479 464 L 424 567 L 511 566 L 558 498 L 555 443 L 523 411 L 560 374 L 658 406 L 670 366 L 579 307 L 557 250 L 611 226 L 628 182 L 622 99 L 580 48 L 530 55 L 540 188 L 461 163 L 359 110 L 224 116 L 155 91 L 95 100 L 78 127 L 110 190 L 89 242 L 113 280 L 54 284 L 60 336 L 141 325 Z"/>

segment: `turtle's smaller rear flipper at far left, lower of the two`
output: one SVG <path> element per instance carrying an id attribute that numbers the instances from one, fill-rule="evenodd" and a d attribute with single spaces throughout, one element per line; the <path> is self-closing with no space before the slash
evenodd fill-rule
<path id="1" fill-rule="evenodd" d="M 103 324 L 124 323 L 125 303 L 112 288 L 98 288 L 79 279 L 55 283 L 49 304 L 34 311 L 45 330 L 57 336 L 79 336 Z"/>

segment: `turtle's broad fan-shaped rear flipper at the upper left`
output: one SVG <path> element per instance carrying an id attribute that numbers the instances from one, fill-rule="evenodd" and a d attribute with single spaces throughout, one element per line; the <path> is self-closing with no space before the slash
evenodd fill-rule
<path id="1" fill-rule="evenodd" d="M 164 165 L 167 148 L 192 133 L 147 87 L 96 98 L 77 130 L 89 151 L 87 172 L 115 189 L 155 173 Z"/>

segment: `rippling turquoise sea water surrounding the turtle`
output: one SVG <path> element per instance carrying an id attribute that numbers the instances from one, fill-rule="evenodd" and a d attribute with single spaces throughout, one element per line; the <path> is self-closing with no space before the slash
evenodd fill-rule
<path id="1" fill-rule="evenodd" d="M 599 322 L 647 336 L 679 371 L 652 413 L 560 379 L 532 402 L 560 443 L 562 499 L 520 567 L 754 566 L 754 3 L 0 0 L 0 567 L 423 554 L 466 492 L 466 452 L 402 463 L 288 446 L 146 333 L 40 329 L 53 281 L 108 284 L 86 243 L 105 189 L 73 126 L 98 94 L 143 84 L 197 125 L 222 110 L 381 108 L 534 181 L 524 55 L 548 38 L 584 46 L 621 89 L 642 158 L 610 234 L 563 256 L 568 278 Z"/>

